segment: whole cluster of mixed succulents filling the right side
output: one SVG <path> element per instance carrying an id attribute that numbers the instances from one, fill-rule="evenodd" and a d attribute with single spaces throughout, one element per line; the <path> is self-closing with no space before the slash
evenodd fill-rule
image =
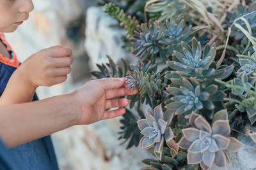
<path id="1" fill-rule="evenodd" d="M 148 1 L 145 19 L 136 24 L 106 4 L 109 15 L 127 20 L 120 22 L 138 63 L 122 59 L 121 66 L 109 57 L 92 74 L 126 77 L 127 87 L 138 90 L 127 96 L 132 110 L 120 121 L 120 139 L 128 141 L 127 148 L 153 153 L 156 160 L 143 160 L 143 169 L 227 167 L 228 153 L 243 147 L 239 135 L 245 132 L 256 142 L 256 5 L 232 3 Z"/>

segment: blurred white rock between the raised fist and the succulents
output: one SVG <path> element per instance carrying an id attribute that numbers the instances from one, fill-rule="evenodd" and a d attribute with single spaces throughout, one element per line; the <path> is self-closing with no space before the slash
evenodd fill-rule
<path id="1" fill-rule="evenodd" d="M 114 62 L 120 58 L 134 60 L 130 52 L 122 48 L 121 37 L 124 36 L 123 28 L 110 27 L 118 25 L 116 19 L 106 15 L 104 8 L 92 6 L 86 14 L 86 41 L 84 47 L 90 59 L 90 68 L 97 70 L 96 64 L 106 63 L 109 55 Z"/>

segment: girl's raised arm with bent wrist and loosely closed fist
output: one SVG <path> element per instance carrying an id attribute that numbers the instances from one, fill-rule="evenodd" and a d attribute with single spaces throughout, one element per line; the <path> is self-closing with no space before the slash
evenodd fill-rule
<path id="1" fill-rule="evenodd" d="M 12 74 L 0 105 L 26 103 L 33 99 L 38 86 L 52 86 L 67 80 L 72 64 L 69 48 L 53 46 L 31 55 Z"/>

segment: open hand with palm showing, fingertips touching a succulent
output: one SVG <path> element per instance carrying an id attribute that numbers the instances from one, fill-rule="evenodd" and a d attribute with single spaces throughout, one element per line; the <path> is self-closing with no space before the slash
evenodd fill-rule
<path id="1" fill-rule="evenodd" d="M 113 99 L 115 97 L 134 95 L 131 88 L 125 88 L 125 78 L 102 78 L 88 81 L 83 87 L 73 92 L 77 104 L 77 120 L 79 124 L 93 124 L 99 120 L 118 117 L 125 113 L 128 99 Z M 118 108 L 109 110 L 110 108 Z"/>

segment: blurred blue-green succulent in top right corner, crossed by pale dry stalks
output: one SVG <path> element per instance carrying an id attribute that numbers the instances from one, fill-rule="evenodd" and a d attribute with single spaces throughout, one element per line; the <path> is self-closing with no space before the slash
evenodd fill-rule
<path id="1" fill-rule="evenodd" d="M 238 4 L 237 8 L 235 8 L 237 11 L 227 11 L 227 21 L 228 24 L 231 25 L 236 18 L 239 18 L 243 15 L 246 15 L 248 13 L 252 13 L 256 10 L 256 3 L 251 4 L 250 8 L 246 6 L 245 8 L 242 6 L 242 4 Z M 250 24 L 250 27 L 252 29 L 252 36 L 256 36 L 256 13 L 252 13 L 250 15 L 244 16 L 244 18 L 248 21 Z M 239 25 L 242 25 L 244 29 L 247 30 L 245 23 L 242 20 L 237 20 L 236 22 Z M 241 43 L 246 45 L 248 43 L 246 36 L 244 36 L 243 32 L 237 29 L 237 27 L 232 27 L 232 32 L 230 34 L 231 37 L 234 37 L 237 40 L 242 40 Z"/>

